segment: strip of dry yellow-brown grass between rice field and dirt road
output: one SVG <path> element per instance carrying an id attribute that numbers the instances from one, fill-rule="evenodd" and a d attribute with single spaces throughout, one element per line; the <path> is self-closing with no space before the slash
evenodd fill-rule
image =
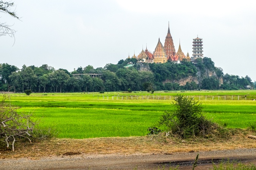
<path id="1" fill-rule="evenodd" d="M 166 153 L 180 151 L 210 151 L 236 148 L 256 148 L 255 135 L 249 130 L 236 130 L 229 139 L 207 140 L 196 139 L 182 141 L 165 136 L 113 137 L 92 139 L 51 139 L 50 141 L 19 143 L 16 151 L 0 150 L 0 159 L 29 158 L 40 159 L 44 156 L 62 156 L 70 153 L 85 154 L 135 154 L 135 153 Z M 70 154 L 72 155 L 72 154 Z M 75 154 L 73 154 L 75 155 Z"/>

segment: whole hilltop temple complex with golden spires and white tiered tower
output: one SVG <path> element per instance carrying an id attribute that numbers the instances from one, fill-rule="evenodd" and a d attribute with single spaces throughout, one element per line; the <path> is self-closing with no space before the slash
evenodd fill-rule
<path id="1" fill-rule="evenodd" d="M 174 63 L 180 63 L 182 60 L 186 59 L 188 61 L 192 61 L 195 63 L 197 58 L 203 58 L 203 39 L 195 38 L 193 39 L 193 54 L 190 59 L 189 54 L 187 56 L 181 50 L 181 42 L 179 42 L 178 51 L 175 51 L 173 38 L 171 37 L 170 33 L 170 26 L 168 23 L 168 32 L 165 37 L 165 44 L 164 46 L 160 42 L 160 38 L 158 39 L 157 46 L 155 47 L 155 51 L 151 53 L 147 47 L 145 51 L 142 49 L 140 54 L 136 57 L 135 53 L 132 58 L 137 59 L 137 63 L 165 63 L 168 60 Z M 130 59 L 130 56 L 128 57 Z"/>

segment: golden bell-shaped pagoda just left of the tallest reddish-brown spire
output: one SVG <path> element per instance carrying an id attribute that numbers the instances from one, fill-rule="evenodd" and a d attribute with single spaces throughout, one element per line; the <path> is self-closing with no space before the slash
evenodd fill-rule
<path id="1" fill-rule="evenodd" d="M 154 63 L 165 63 L 167 62 L 167 55 L 165 53 L 165 49 L 163 48 L 162 43 L 160 42 L 160 38 L 158 39 L 157 46 L 154 51 Z"/>

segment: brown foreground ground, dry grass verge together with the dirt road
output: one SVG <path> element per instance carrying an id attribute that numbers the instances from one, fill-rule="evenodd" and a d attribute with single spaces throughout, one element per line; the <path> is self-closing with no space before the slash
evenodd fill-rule
<path id="1" fill-rule="evenodd" d="M 229 139 L 183 141 L 165 136 L 124 138 L 52 139 L 0 150 L 0 170 L 158 170 L 179 165 L 207 170 L 212 162 L 236 160 L 256 164 L 254 132 L 236 131 Z M 163 168 L 165 167 L 165 168 Z"/>

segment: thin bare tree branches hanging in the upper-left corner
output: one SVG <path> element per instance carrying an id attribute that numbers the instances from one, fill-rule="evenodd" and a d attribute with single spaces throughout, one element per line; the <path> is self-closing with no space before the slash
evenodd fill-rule
<path id="1" fill-rule="evenodd" d="M 0 0 L 0 11 L 4 12 L 6 14 L 11 15 L 12 17 L 19 19 L 19 17 L 17 16 L 16 12 L 11 12 L 11 7 L 14 6 L 13 2 L 3 2 L 2 0 Z M 16 31 L 11 29 L 9 25 L 7 25 L 6 23 L 1 23 L 0 22 L 0 36 L 10 36 L 13 37 L 14 33 Z"/>

